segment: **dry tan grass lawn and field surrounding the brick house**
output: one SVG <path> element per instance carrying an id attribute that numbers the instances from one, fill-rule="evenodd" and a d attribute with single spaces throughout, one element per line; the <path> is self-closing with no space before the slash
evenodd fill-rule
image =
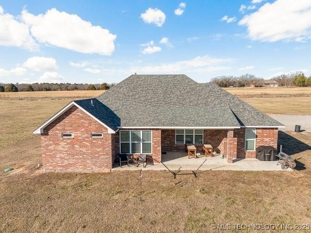
<path id="1" fill-rule="evenodd" d="M 211 224 L 311 224 L 311 133 L 279 133 L 297 170 L 206 171 L 175 180 L 167 171 L 144 171 L 140 192 L 138 171 L 40 172 L 40 136 L 32 131 L 71 100 L 63 97 L 0 100 L 1 233 L 201 233 L 223 232 Z M 245 100 L 260 107 L 267 99 Z M 6 167 L 15 169 L 4 173 Z"/>

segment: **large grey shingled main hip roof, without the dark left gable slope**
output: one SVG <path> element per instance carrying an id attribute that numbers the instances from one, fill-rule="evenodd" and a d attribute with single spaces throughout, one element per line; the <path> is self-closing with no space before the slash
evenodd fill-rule
<path id="1" fill-rule="evenodd" d="M 121 128 L 283 126 L 222 88 L 186 75 L 131 75 L 97 99 L 114 113 L 103 120 L 119 117 Z"/>

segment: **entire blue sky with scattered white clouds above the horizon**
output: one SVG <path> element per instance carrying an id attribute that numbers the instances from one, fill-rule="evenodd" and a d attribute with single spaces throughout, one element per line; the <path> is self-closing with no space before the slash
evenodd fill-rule
<path id="1" fill-rule="evenodd" d="M 0 0 L 0 83 L 310 76 L 310 39 L 310 0 Z"/>

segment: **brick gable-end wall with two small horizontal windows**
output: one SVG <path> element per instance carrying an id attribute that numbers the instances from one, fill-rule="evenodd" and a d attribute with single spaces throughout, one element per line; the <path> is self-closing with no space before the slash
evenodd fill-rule
<path id="1" fill-rule="evenodd" d="M 74 138 L 62 138 L 74 133 Z M 103 138 L 91 138 L 103 133 Z M 43 171 L 110 171 L 114 134 L 76 106 L 55 119 L 41 134 Z"/>

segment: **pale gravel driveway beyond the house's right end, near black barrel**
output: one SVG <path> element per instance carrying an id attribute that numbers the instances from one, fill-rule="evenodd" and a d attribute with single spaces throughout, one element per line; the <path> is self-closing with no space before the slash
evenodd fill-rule
<path id="1" fill-rule="evenodd" d="M 269 115 L 285 125 L 285 128 L 279 128 L 280 131 L 295 131 L 295 125 L 300 125 L 300 130 L 311 132 L 311 116 L 300 115 Z"/>

